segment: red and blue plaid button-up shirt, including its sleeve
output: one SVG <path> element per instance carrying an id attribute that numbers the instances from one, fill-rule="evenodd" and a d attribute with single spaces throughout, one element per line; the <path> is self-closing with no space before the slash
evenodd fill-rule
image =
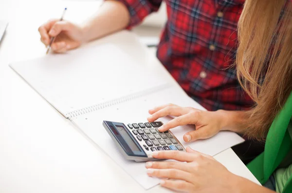
<path id="1" fill-rule="evenodd" d="M 162 0 L 120 0 L 129 27 L 157 11 Z M 157 57 L 185 92 L 207 110 L 241 110 L 254 104 L 237 81 L 237 21 L 244 0 L 165 0 L 168 20 Z"/>

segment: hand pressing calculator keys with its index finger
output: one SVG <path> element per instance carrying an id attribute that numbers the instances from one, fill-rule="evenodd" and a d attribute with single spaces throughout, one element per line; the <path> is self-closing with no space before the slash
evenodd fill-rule
<path id="1" fill-rule="evenodd" d="M 156 107 L 149 110 L 149 114 L 151 114 L 147 118 L 149 122 L 153 122 L 163 116 L 177 116 L 158 128 L 161 132 L 181 125 L 196 125 L 195 131 L 183 135 L 183 140 L 186 142 L 216 135 L 223 127 L 224 120 L 221 111 L 201 111 L 192 107 L 179 107 L 174 104 Z"/>

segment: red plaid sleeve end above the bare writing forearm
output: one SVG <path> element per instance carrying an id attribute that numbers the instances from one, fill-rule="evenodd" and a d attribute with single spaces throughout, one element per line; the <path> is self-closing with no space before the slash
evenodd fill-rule
<path id="1" fill-rule="evenodd" d="M 128 28 L 143 21 L 150 13 L 158 11 L 162 0 L 118 0 L 126 5 L 130 13 Z"/>

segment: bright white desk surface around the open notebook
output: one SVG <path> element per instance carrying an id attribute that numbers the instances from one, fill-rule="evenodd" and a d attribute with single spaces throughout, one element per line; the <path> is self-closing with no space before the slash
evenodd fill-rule
<path id="1" fill-rule="evenodd" d="M 0 45 L 0 192 L 146 192 L 8 67 L 45 54 L 37 28 L 60 17 L 64 5 L 74 10 L 66 18 L 78 21 L 98 7 L 92 1 L 0 1 L 0 19 L 9 21 Z M 231 172 L 257 182 L 231 149 L 215 157 Z M 147 192 L 158 191 L 169 192 L 160 186 Z"/>

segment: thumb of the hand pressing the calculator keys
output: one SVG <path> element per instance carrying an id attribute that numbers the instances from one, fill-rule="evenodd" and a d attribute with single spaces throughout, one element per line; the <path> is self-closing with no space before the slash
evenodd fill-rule
<path id="1" fill-rule="evenodd" d="M 183 135 L 183 140 L 185 142 L 195 141 L 198 139 L 207 139 L 214 135 L 216 135 L 218 132 L 214 132 L 209 127 L 201 127 L 200 129 L 197 129 L 195 131 L 188 132 Z"/>

